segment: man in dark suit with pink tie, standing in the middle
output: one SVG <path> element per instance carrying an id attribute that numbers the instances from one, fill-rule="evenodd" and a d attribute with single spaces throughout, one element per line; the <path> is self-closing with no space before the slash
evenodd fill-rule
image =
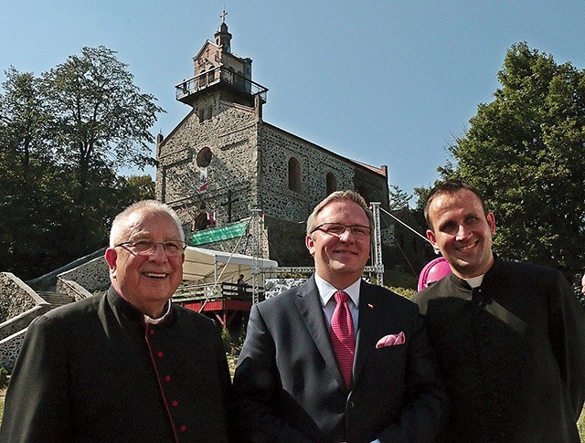
<path id="1" fill-rule="evenodd" d="M 360 195 L 329 195 L 307 221 L 314 276 L 253 306 L 234 377 L 242 440 L 434 439 L 448 405 L 419 309 L 361 280 L 372 227 Z"/>

